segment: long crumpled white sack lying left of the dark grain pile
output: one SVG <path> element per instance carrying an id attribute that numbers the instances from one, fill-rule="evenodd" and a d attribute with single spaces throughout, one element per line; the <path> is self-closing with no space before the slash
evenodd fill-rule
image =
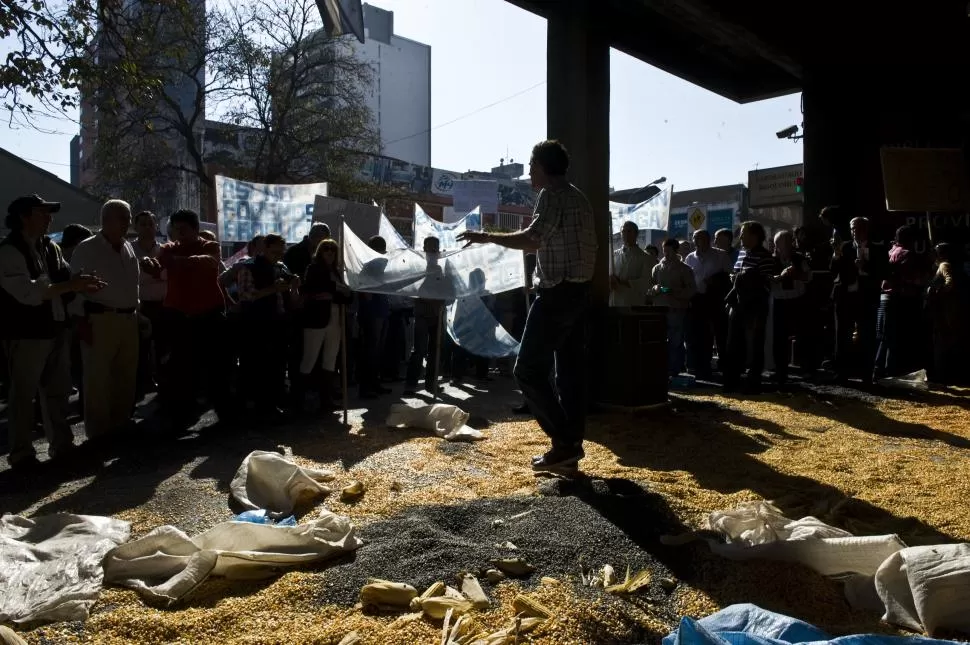
<path id="1" fill-rule="evenodd" d="M 297 526 L 223 522 L 194 538 L 174 526 L 161 526 L 112 550 L 104 560 L 104 579 L 172 603 L 209 576 L 263 578 L 361 544 L 350 520 L 330 511 Z"/>

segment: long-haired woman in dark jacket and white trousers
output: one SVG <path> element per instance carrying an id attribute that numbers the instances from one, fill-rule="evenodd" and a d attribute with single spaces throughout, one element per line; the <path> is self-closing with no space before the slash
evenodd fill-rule
<path id="1" fill-rule="evenodd" d="M 297 387 L 306 392 L 309 376 L 322 356 L 318 389 L 322 409 L 333 408 L 333 376 L 340 353 L 339 305 L 350 303 L 352 296 L 337 263 L 338 251 L 334 240 L 320 242 L 303 281 L 303 360 Z"/>

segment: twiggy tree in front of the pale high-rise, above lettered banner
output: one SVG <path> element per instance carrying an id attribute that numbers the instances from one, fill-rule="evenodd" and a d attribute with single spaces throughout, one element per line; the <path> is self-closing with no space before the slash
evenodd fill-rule
<path id="1" fill-rule="evenodd" d="M 367 107 L 373 70 L 354 41 L 321 29 L 315 0 L 249 0 L 230 12 L 231 54 L 216 72 L 224 120 L 244 129 L 243 161 L 266 183 L 328 181 L 357 193 L 357 170 L 379 137 Z"/>

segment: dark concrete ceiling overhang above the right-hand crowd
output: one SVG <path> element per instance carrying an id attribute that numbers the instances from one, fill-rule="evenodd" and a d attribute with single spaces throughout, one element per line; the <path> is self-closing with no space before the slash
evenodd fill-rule
<path id="1" fill-rule="evenodd" d="M 569 0 L 508 0 L 546 18 Z M 867 3 L 868 4 L 868 3 Z M 597 0 L 610 45 L 741 103 L 802 89 L 806 67 L 970 60 L 966 0 Z M 850 13 L 851 10 L 851 13 Z"/>

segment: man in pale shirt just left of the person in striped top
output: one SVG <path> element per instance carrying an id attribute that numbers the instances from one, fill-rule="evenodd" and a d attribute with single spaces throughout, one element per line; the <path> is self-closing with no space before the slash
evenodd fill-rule
<path id="1" fill-rule="evenodd" d="M 724 297 L 731 288 L 731 255 L 711 246 L 711 234 L 694 232 L 694 248 L 684 262 L 694 271 L 697 293 L 691 299 L 687 320 L 687 360 L 698 378 L 711 376 L 714 343 L 718 354 L 725 352 L 727 314 Z"/>

